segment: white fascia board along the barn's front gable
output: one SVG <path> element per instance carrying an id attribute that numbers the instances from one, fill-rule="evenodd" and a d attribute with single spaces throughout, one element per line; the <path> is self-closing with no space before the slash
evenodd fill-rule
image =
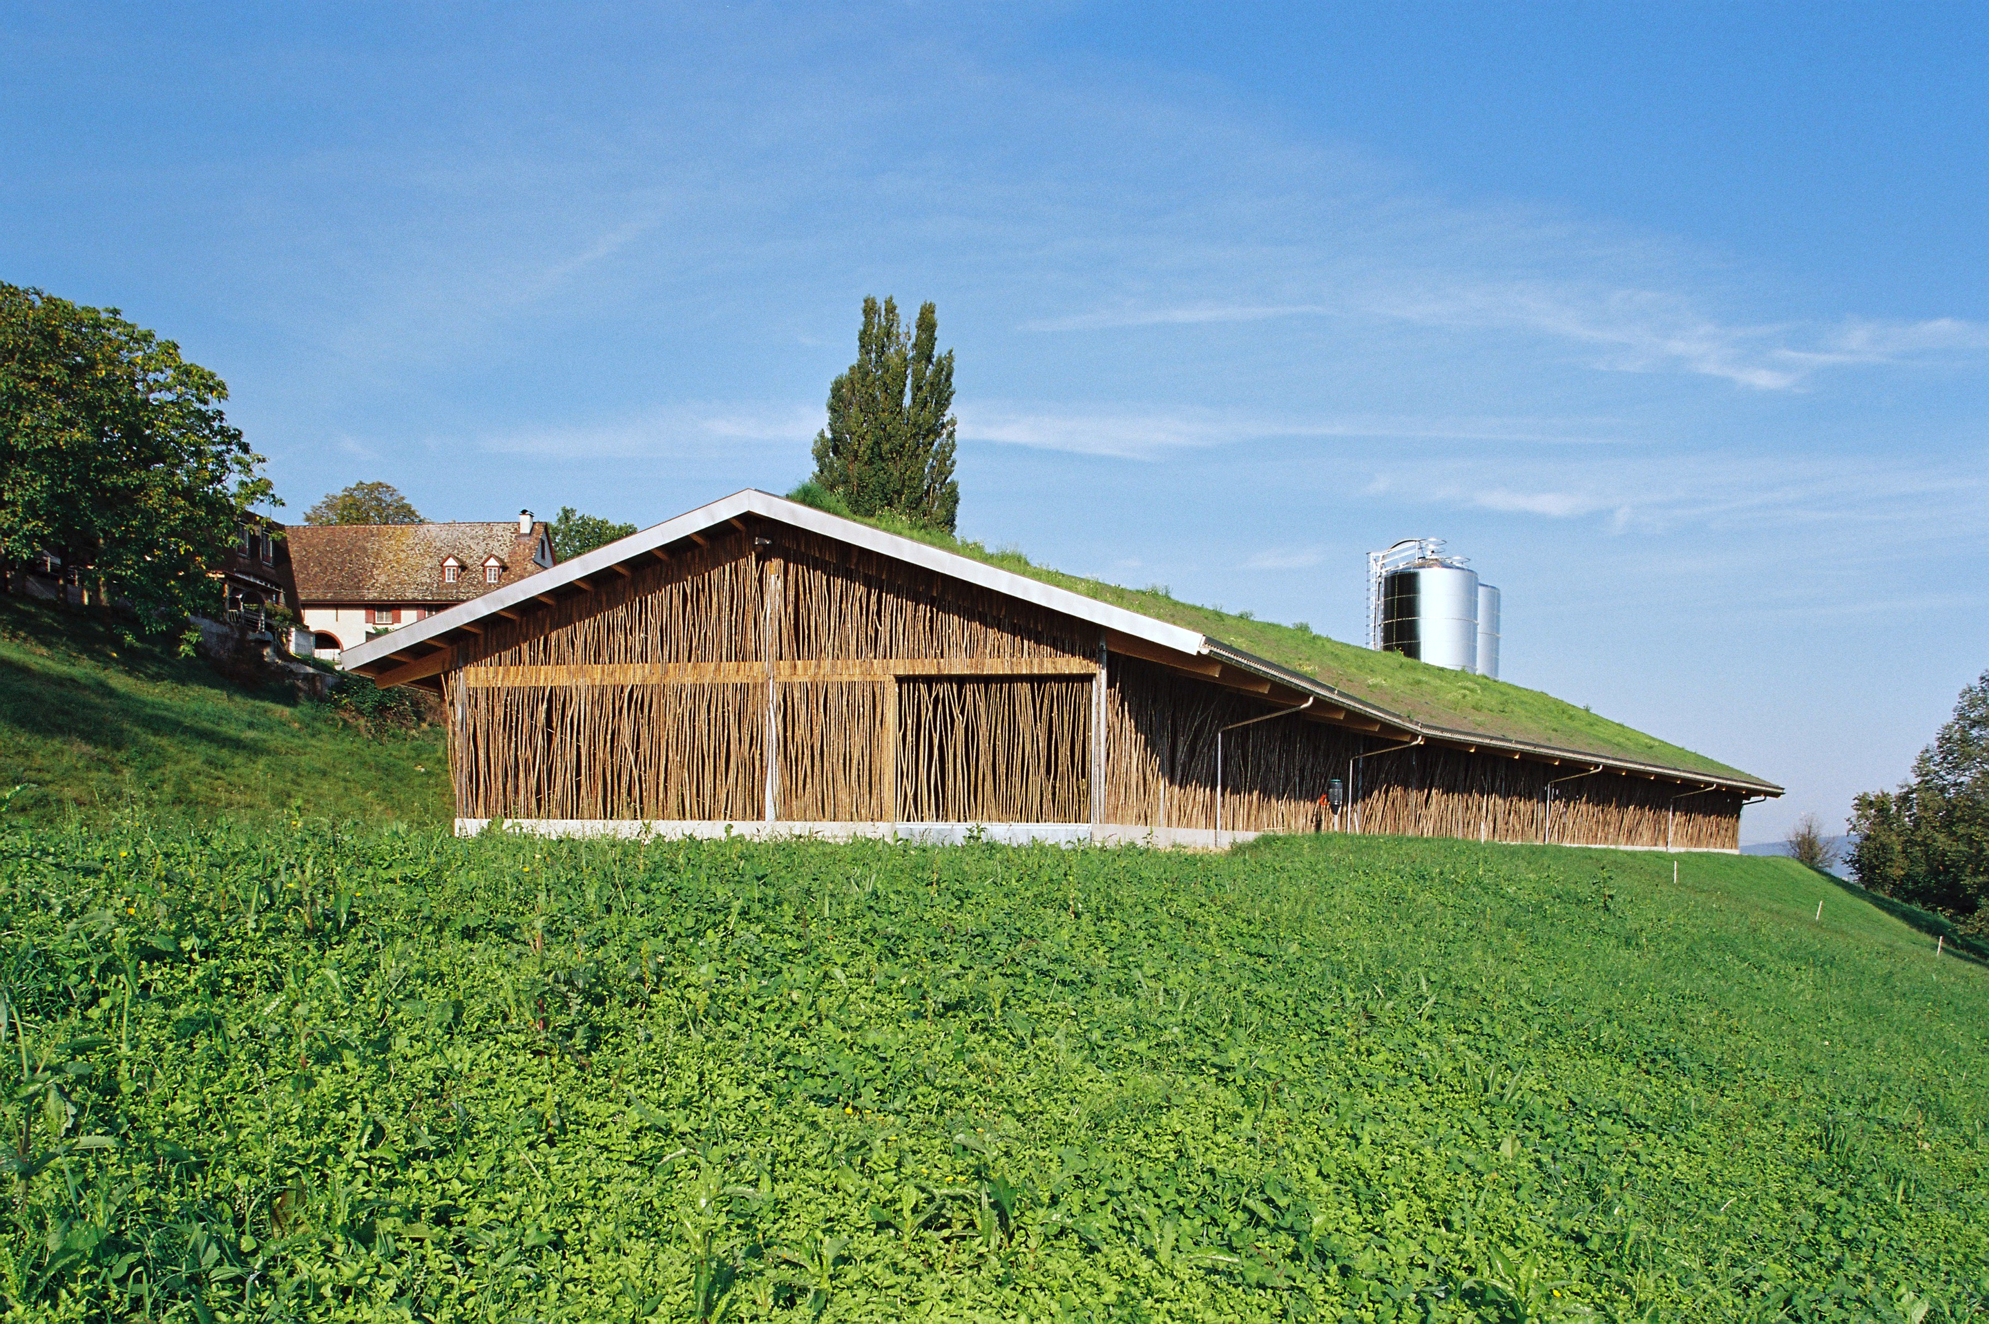
<path id="1" fill-rule="evenodd" d="M 1044 584 L 1024 575 L 985 565 L 973 557 L 961 557 L 959 553 L 929 547 L 917 539 L 885 533 L 883 529 L 871 529 L 869 525 L 817 511 L 812 505 L 802 505 L 800 501 L 788 501 L 786 497 L 746 489 L 736 491 L 730 497 L 720 497 L 710 505 L 700 505 L 694 511 L 678 515 L 676 519 L 668 519 L 660 525 L 652 525 L 638 533 L 631 533 L 625 539 L 597 547 L 591 553 L 575 557 L 573 561 L 561 561 L 549 571 L 539 571 L 537 575 L 527 575 L 521 580 L 491 588 L 479 598 L 457 602 L 444 612 L 402 626 L 392 634 L 382 634 L 358 644 L 356 648 L 346 648 L 340 662 L 348 670 L 372 666 L 432 640 L 438 634 L 448 634 L 450 630 L 473 624 L 501 608 L 529 602 L 541 592 L 551 592 L 577 579 L 599 575 L 601 571 L 625 561 L 646 557 L 660 547 L 688 539 L 692 533 L 704 533 L 706 529 L 722 525 L 728 519 L 738 519 L 740 515 L 760 515 L 776 523 L 819 533 L 821 537 L 849 543 L 851 547 L 863 547 L 865 551 L 873 551 L 881 557 L 905 561 L 949 579 L 993 588 L 994 592 L 1022 598 L 1024 602 L 1036 602 L 1038 606 L 1046 606 L 1054 612 L 1076 616 L 1078 620 L 1088 620 L 1092 624 L 1118 630 L 1120 634 L 1132 634 L 1134 638 L 1144 638 L 1152 644 L 1160 644 L 1162 648 L 1172 648 L 1189 656 L 1203 652 L 1207 646 L 1207 640 L 1195 630 L 1183 630 L 1181 626 L 1172 626 L 1164 620 L 1142 616 L 1140 612 L 1128 612 L 1126 608 L 1112 606 L 1110 602 L 1098 602 L 1096 598 L 1086 598 L 1080 592 L 1056 588 L 1054 584 Z"/>

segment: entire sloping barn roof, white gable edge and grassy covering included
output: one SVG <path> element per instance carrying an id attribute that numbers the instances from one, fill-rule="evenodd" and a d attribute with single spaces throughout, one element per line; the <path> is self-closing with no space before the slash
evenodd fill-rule
<path id="1" fill-rule="evenodd" d="M 1225 676 L 1245 674 L 1277 686 L 1279 694 L 1311 698 L 1313 716 L 1376 732 L 1386 740 L 1428 740 L 1448 745 L 1484 747 L 1545 761 L 1593 763 L 1627 773 L 1665 777 L 1679 783 L 1724 787 L 1756 795 L 1780 795 L 1782 787 L 1705 755 L 1669 745 L 1627 726 L 1597 718 L 1537 690 L 1484 676 L 1460 674 L 1414 662 L 1398 654 L 1353 648 L 1289 626 L 1269 626 L 1207 608 L 1174 602 L 1156 592 L 1136 592 L 1096 580 L 1082 580 L 1020 563 L 1004 569 L 1004 557 L 963 555 L 917 537 L 903 537 L 863 521 L 829 515 L 764 491 L 740 491 L 710 505 L 642 529 L 621 541 L 561 563 L 533 577 L 529 584 L 505 582 L 473 602 L 461 602 L 428 620 L 348 648 L 344 664 L 388 684 L 434 676 L 452 664 L 452 632 L 491 612 L 551 596 L 575 580 L 603 575 L 611 567 L 688 539 L 740 517 L 760 517 L 867 551 L 917 565 L 1026 602 L 1036 602 L 1076 620 L 1088 620 L 1118 638 L 1114 648 L 1154 660 L 1179 660 Z M 937 541 L 937 539 L 935 539 Z M 973 549 L 979 553 L 979 549 Z M 440 559 L 438 559 L 440 561 Z M 1020 573 L 1018 573 L 1020 571 Z M 298 577 L 302 592 L 302 575 Z M 1172 620 L 1170 620 L 1172 616 Z M 1237 642 L 1213 634 L 1241 636 Z M 1313 640 L 1295 648 L 1293 640 Z M 465 636 L 457 636 L 465 638 Z M 1239 644 L 1251 644 L 1245 648 Z M 1315 656 L 1317 652 L 1317 656 Z M 1343 656 L 1349 654 L 1349 656 Z M 1362 664 L 1353 666 L 1351 654 Z M 1221 680 L 1217 680 L 1221 684 Z M 1490 696 L 1492 702 L 1486 702 Z M 1333 714 L 1339 714 L 1335 718 Z"/>

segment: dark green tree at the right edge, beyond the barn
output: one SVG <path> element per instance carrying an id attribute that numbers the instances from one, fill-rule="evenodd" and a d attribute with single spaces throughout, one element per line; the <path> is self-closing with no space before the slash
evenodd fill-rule
<path id="1" fill-rule="evenodd" d="M 1860 883 L 1989 928 L 1989 672 L 1961 692 L 1898 791 L 1852 805 Z"/>

